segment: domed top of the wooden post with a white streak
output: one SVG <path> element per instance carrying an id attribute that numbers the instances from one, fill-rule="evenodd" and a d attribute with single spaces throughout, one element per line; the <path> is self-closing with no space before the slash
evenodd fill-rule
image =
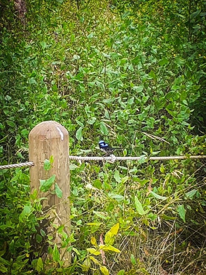
<path id="1" fill-rule="evenodd" d="M 38 123 L 29 133 L 29 138 L 35 136 L 44 136 L 46 138 L 61 138 L 64 140 L 64 136 L 68 136 L 68 131 L 60 123 L 48 120 Z"/>

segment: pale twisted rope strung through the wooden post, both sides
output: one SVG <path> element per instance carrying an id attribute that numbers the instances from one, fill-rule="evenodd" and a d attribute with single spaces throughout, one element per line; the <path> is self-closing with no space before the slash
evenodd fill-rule
<path id="1" fill-rule="evenodd" d="M 89 160 L 105 160 L 110 163 L 114 163 L 117 160 L 140 160 L 141 157 L 131 157 L 131 156 L 125 156 L 125 157 L 116 157 L 114 155 L 110 155 L 107 157 L 96 157 L 96 156 L 69 156 L 70 160 L 81 160 L 81 161 L 89 161 Z M 144 156 L 145 159 L 147 159 L 146 156 Z M 186 160 L 186 159 L 206 159 L 206 156 L 163 156 L 163 157 L 149 157 L 148 160 Z M 16 164 L 8 164 L 8 165 L 2 165 L 0 166 L 0 170 L 3 169 L 10 169 L 10 168 L 18 168 L 18 167 L 27 167 L 27 166 L 34 166 L 34 162 L 23 162 L 23 163 L 16 163 Z"/>

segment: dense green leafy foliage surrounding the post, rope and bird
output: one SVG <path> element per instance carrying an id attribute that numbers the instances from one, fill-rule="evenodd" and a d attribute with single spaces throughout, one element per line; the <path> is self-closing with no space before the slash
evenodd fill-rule
<path id="1" fill-rule="evenodd" d="M 66 268 L 52 235 L 39 228 L 46 198 L 37 194 L 62 197 L 55 175 L 29 195 L 27 169 L 0 171 L 1 272 L 178 273 L 179 262 L 185 272 L 193 262 L 201 269 L 204 163 L 148 163 L 147 156 L 206 153 L 204 2 L 31 1 L 25 26 L 7 2 L 0 24 L 1 164 L 27 160 L 28 133 L 45 120 L 67 128 L 70 155 L 99 154 L 103 138 L 142 158 L 70 163 L 72 233 L 54 228 L 73 255 Z M 52 163 L 52 156 L 45 160 L 45 171 Z"/>

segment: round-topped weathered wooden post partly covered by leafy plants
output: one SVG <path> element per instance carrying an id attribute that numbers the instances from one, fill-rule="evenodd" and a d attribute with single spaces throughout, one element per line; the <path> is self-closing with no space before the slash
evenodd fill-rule
<path id="1" fill-rule="evenodd" d="M 52 168 L 48 171 L 44 170 L 45 159 L 53 155 Z M 70 234 L 70 204 L 68 197 L 70 196 L 69 182 L 69 141 L 68 131 L 55 121 L 44 121 L 36 125 L 29 133 L 29 161 L 34 162 L 34 166 L 30 168 L 30 190 L 38 191 L 38 197 L 47 197 L 43 200 L 42 209 L 50 209 L 50 217 L 57 226 L 64 225 L 64 232 Z M 62 190 L 62 198 L 58 198 L 56 194 L 40 193 L 40 179 L 48 179 L 53 174 L 56 175 L 55 182 Z M 52 232 L 53 233 L 53 232 Z M 56 233 L 54 242 L 60 248 L 61 236 Z M 64 266 L 70 263 L 70 254 L 66 249 L 61 249 L 60 260 L 64 262 Z"/>

